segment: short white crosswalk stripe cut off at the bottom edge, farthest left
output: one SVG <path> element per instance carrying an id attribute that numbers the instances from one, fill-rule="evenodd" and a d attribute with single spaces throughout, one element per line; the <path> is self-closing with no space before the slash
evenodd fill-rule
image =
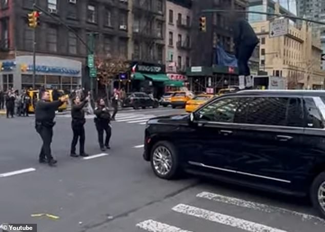
<path id="1" fill-rule="evenodd" d="M 136 224 L 137 227 L 151 231 L 151 232 L 192 232 L 190 230 L 184 230 L 176 226 L 168 225 L 154 220 L 146 220 Z"/>

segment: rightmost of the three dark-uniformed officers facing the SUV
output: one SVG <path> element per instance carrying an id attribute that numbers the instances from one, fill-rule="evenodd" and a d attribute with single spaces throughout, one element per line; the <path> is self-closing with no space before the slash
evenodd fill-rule
<path id="1" fill-rule="evenodd" d="M 96 125 L 96 129 L 98 132 L 98 143 L 99 147 L 102 151 L 105 151 L 105 147 L 107 149 L 111 149 L 109 146 L 110 138 L 111 138 L 111 114 L 109 112 L 108 107 L 105 105 L 105 101 L 103 99 L 100 99 L 97 102 L 97 107 L 94 110 L 94 113 L 96 115 L 96 118 L 94 118 L 94 122 Z M 106 132 L 106 139 L 104 144 L 104 131 Z M 105 145 L 105 147 L 104 147 Z"/>

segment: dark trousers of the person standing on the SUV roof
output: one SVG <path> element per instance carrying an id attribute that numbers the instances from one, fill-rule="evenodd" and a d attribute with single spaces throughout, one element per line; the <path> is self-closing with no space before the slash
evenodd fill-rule
<path id="1" fill-rule="evenodd" d="M 256 45 L 240 45 L 237 60 L 238 60 L 238 74 L 248 76 L 251 74 L 250 68 L 248 67 L 248 61 L 252 56 Z"/>

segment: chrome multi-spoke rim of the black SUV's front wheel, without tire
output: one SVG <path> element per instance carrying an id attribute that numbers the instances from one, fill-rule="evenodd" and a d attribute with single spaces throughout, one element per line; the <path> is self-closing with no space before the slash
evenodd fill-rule
<path id="1" fill-rule="evenodd" d="M 166 176 L 170 172 L 173 160 L 169 149 L 165 146 L 157 146 L 152 156 L 153 167 L 161 176 Z"/>

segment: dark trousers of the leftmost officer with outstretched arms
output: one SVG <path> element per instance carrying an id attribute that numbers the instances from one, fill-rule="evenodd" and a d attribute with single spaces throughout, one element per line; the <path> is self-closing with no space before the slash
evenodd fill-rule
<path id="1" fill-rule="evenodd" d="M 53 159 L 51 155 L 51 143 L 53 137 L 53 128 L 46 127 L 43 125 L 36 125 L 36 131 L 39 133 L 40 138 L 42 138 L 43 145 L 40 149 L 39 160 L 44 161 L 45 158 L 50 161 Z"/>

